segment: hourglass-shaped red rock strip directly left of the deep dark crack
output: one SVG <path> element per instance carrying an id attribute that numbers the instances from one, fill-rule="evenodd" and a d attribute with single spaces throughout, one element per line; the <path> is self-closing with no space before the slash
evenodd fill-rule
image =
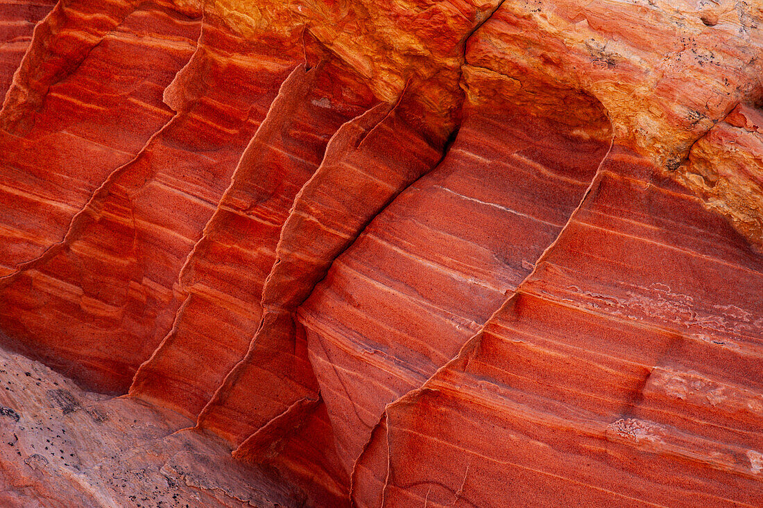
<path id="1" fill-rule="evenodd" d="M 317 409 L 298 404 L 318 395 L 304 332 L 292 312 L 365 224 L 410 182 L 436 166 L 436 159 L 444 158 L 395 113 L 401 99 L 391 106 L 379 104 L 348 121 L 330 140 L 320 168 L 295 198 L 282 228 L 277 259 L 262 291 L 265 314 L 250 351 L 198 418 L 198 428 L 241 443 L 237 456 L 275 464 L 311 499 L 330 506 L 346 503 L 349 479 L 336 457 L 322 401 Z M 401 133 L 413 147 L 405 156 L 391 151 L 400 143 Z M 353 181 L 358 183 L 346 185 Z M 352 220 L 325 223 L 337 214 Z M 285 266 L 291 268 L 284 270 Z M 282 358 L 273 362 L 276 355 Z M 270 387 L 263 378 L 275 384 Z M 291 387 L 290 391 L 278 384 Z M 269 395 L 274 390 L 280 392 L 275 407 Z M 301 416 L 293 410 L 300 407 Z M 264 426 L 269 427 L 268 436 L 278 434 L 279 411 L 290 415 L 287 422 L 301 418 L 300 431 L 282 429 L 282 452 L 276 458 L 258 457 L 250 439 L 262 436 Z M 315 480 L 316 474 L 320 481 Z"/>

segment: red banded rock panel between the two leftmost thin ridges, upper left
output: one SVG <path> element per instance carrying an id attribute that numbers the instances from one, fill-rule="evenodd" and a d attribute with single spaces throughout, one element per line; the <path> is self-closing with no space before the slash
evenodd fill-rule
<path id="1" fill-rule="evenodd" d="M 85 56 L 77 45 L 69 48 L 71 56 L 49 50 L 66 47 L 63 41 L 71 39 L 82 43 L 80 35 L 88 31 L 90 18 L 80 18 L 85 14 L 78 14 L 77 7 L 75 2 L 66 14 L 53 11 L 40 23 L 52 28 L 35 32 L 30 56 L 20 68 L 27 70 L 19 71 L 23 78 L 14 84 L 19 92 L 8 92 L 9 101 L 0 113 L 7 121 L 0 130 L 5 153 L 0 200 L 11 208 L 0 223 L 4 277 L 60 243 L 72 218 L 92 201 L 108 176 L 140 153 L 172 118 L 161 92 L 191 57 L 198 39 L 198 19 L 173 12 L 169 3 L 148 2 L 131 10 L 118 2 L 114 9 L 119 22 L 99 31 L 97 43 Z M 153 68 L 142 65 L 146 53 L 155 61 Z M 101 80 L 106 69 L 111 79 Z M 37 92 L 21 92 L 30 88 Z M 11 121 L 17 116 L 24 126 Z M 122 127 L 136 116 L 144 119 L 140 125 Z M 109 133 L 115 127 L 120 129 L 118 136 Z M 50 151 L 56 156 L 40 159 L 40 152 Z M 41 214 L 48 219 L 44 228 L 35 220 Z"/>

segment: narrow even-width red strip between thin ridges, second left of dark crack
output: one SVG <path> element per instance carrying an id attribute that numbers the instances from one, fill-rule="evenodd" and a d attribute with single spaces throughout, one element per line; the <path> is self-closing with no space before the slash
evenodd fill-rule
<path id="1" fill-rule="evenodd" d="M 131 394 L 197 416 L 245 355 L 260 321 L 262 285 L 289 207 L 317 169 L 330 136 L 371 97 L 356 95 L 355 104 L 334 93 L 337 71 L 331 61 L 310 70 L 299 64 L 282 84 L 182 269 L 180 285 L 188 291 L 189 304 L 172 335 L 138 372 Z M 248 284 L 226 275 L 233 260 L 250 274 Z M 209 326 L 211 316 L 220 317 L 219 326 Z M 188 362 L 198 362 L 204 376 L 189 370 Z"/>

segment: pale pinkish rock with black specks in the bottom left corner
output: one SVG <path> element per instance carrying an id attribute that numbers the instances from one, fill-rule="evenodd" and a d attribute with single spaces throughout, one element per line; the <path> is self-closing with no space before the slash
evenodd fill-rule
<path id="1" fill-rule="evenodd" d="M 0 353 L 3 506 L 298 506 L 271 472 L 132 398 L 82 391 L 21 355 Z"/>

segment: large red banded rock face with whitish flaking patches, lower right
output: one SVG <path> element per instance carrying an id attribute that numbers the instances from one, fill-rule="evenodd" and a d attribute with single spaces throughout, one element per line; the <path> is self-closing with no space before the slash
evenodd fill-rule
<path id="1" fill-rule="evenodd" d="M 381 458 L 371 455 L 386 453 L 390 464 L 386 472 L 365 474 L 368 490 L 361 492 L 359 506 L 378 506 L 372 502 L 379 499 L 380 488 L 388 503 L 425 498 L 430 503 L 446 503 L 459 492 L 465 501 L 478 506 L 493 506 L 506 496 L 520 503 L 532 499 L 535 506 L 552 506 L 552 492 L 558 488 L 565 488 L 571 500 L 615 496 L 627 506 L 696 506 L 697 500 L 713 506 L 760 503 L 763 489 L 756 477 L 755 458 L 761 442 L 754 430 L 759 416 L 754 416 L 753 408 L 758 397 L 754 394 L 763 381 L 758 370 L 763 355 L 760 329 L 756 327 L 758 332 L 750 336 L 753 329 L 745 326 L 749 321 L 745 315 L 759 315 L 759 310 L 758 314 L 749 310 L 760 306 L 753 288 L 759 288 L 763 281 L 763 265 L 759 259 L 753 262 L 756 258 L 749 246 L 720 217 L 703 211 L 700 200 L 665 182 L 649 162 L 619 148 L 616 152 L 600 170 L 596 187 L 571 218 L 565 234 L 517 294 L 491 317 L 458 358 L 420 391 L 410 392 L 386 408 L 388 448 L 380 450 L 372 443 L 361 463 L 378 465 Z M 651 194 L 652 198 L 635 198 L 634 191 Z M 624 210 L 623 204 L 649 206 L 650 215 L 633 214 Z M 678 217 L 676 211 L 680 211 Z M 620 224 L 629 228 L 628 234 L 617 233 L 596 226 L 607 220 L 605 213 L 654 217 L 655 222 L 639 229 L 623 221 Z M 655 230 L 658 223 L 662 225 Z M 585 241 L 585 230 L 589 235 L 619 237 L 629 245 L 614 247 L 611 241 L 592 239 L 588 245 L 609 246 L 610 255 L 598 257 L 592 252 L 593 265 L 583 259 L 583 266 L 576 257 L 574 269 L 591 275 L 576 279 L 576 285 L 570 286 L 572 265 L 560 262 L 579 252 L 575 245 Z M 714 236 L 713 246 L 726 238 L 720 259 L 703 255 L 710 243 L 697 236 L 700 231 Z M 641 295 L 630 292 L 623 300 L 620 294 L 634 291 L 633 275 L 614 273 L 604 279 L 600 274 L 612 272 L 607 272 L 602 261 L 638 266 L 643 277 L 652 268 L 623 262 L 623 255 L 643 255 L 643 249 L 654 246 L 658 235 L 670 236 L 671 245 L 677 246 L 673 250 L 677 257 L 671 260 L 674 265 L 686 266 L 679 258 L 687 256 L 697 263 L 717 265 L 715 269 L 723 269 L 723 276 L 734 281 L 735 294 L 708 291 L 697 281 L 684 281 L 684 285 L 696 288 L 684 291 L 685 287 L 678 286 L 681 278 L 703 273 L 694 270 L 674 272 L 673 280 L 663 274 L 665 284 L 649 285 L 649 280 L 643 280 L 639 284 Z M 739 263 L 742 260 L 744 263 Z M 742 268 L 756 265 L 755 272 Z M 669 271 L 669 266 L 660 269 Z M 594 274 L 598 275 L 594 278 Z M 562 288 L 566 289 L 560 291 Z M 681 313 L 681 305 L 687 301 L 697 301 L 697 290 L 728 309 L 715 310 L 724 319 L 709 319 L 712 307 L 705 304 L 694 307 L 696 314 L 688 327 L 678 325 L 675 313 Z M 649 291 L 651 296 L 647 296 Z M 654 301 L 649 307 L 639 299 L 646 297 Z M 653 311 L 642 314 L 647 309 Z M 636 319 L 638 314 L 640 319 Z M 713 362 L 703 358 L 713 358 Z M 537 361 L 544 362 L 547 376 L 527 375 Z M 462 401 L 457 413 L 452 410 L 456 399 Z M 494 408 L 492 416 L 478 410 L 484 404 Z M 436 435 L 424 420 L 415 417 L 422 411 L 439 415 Z M 456 437 L 470 435 L 472 417 L 482 429 L 482 445 Z M 452 426 L 453 421 L 459 425 Z M 415 439 L 404 438 L 412 432 Z M 522 446 L 511 445 L 517 432 L 535 437 Z M 434 448 L 427 436 L 436 437 Z M 459 439 L 456 448 L 450 444 L 455 444 L 453 439 Z M 485 443 L 491 443 L 490 450 L 485 449 Z M 536 443 L 550 447 L 541 461 L 538 452 L 533 452 Z M 417 454 L 411 455 L 402 447 L 416 449 Z M 645 454 L 643 459 L 606 464 L 607 457 L 633 457 L 628 450 L 634 448 Z M 565 455 L 560 455 L 562 450 Z M 450 471 L 428 468 L 422 472 L 427 469 L 423 464 L 431 464 L 432 452 L 440 460 L 447 457 L 459 466 Z M 565 468 L 570 454 L 584 466 Z M 414 456 L 417 459 L 410 463 Z M 409 461 L 407 465 L 401 463 L 403 457 Z M 467 464 L 470 474 L 482 478 L 498 474 L 496 468 L 500 474 L 506 474 L 507 468 L 520 474 L 531 467 L 533 474 L 525 477 L 521 488 L 504 484 L 478 492 L 459 475 Z M 371 466 L 364 467 L 370 471 Z M 690 478 L 701 478 L 702 487 Z M 549 482 L 558 487 L 549 488 Z"/>

